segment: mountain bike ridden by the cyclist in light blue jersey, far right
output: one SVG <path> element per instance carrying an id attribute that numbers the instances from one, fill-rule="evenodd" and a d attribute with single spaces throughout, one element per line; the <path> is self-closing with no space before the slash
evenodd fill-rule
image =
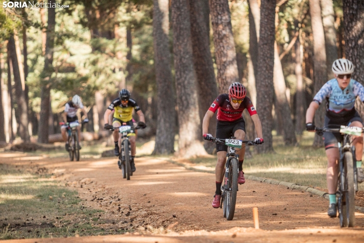
<path id="1" fill-rule="evenodd" d="M 342 142 L 338 142 L 340 151 L 337 207 L 339 208 L 340 227 L 355 226 L 355 193 L 358 191 L 355 147 L 351 145 L 351 136 L 361 136 L 363 129 L 359 127 L 340 126 L 340 128 L 316 128 L 316 133 L 341 133 Z"/>

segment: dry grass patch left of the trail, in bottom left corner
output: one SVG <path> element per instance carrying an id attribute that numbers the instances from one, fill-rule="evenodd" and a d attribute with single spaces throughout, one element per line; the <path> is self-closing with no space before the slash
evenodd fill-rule
<path id="1" fill-rule="evenodd" d="M 125 232 L 107 232 L 98 226 L 104 212 L 83 206 L 76 191 L 60 186 L 47 171 L 27 170 L 0 164 L 0 239 Z"/>

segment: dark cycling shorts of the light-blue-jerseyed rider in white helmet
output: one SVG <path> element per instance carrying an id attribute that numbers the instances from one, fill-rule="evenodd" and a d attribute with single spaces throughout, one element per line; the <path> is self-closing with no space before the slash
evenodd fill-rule
<path id="1" fill-rule="evenodd" d="M 358 112 L 355 112 L 354 115 L 343 117 L 341 119 L 330 118 L 325 116 L 324 127 L 326 128 L 340 128 L 340 126 L 349 126 L 352 122 L 360 122 L 363 123 Z M 343 135 L 341 133 L 332 133 L 332 132 L 324 132 L 323 135 L 325 150 L 331 148 L 339 148 L 337 142 L 343 141 Z"/>

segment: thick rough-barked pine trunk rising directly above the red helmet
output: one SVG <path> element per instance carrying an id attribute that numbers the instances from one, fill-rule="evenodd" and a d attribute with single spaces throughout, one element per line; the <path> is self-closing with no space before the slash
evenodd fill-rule
<path id="1" fill-rule="evenodd" d="M 226 93 L 231 83 L 239 82 L 228 0 L 210 0 L 210 9 L 214 30 L 217 83 L 219 93 Z"/>

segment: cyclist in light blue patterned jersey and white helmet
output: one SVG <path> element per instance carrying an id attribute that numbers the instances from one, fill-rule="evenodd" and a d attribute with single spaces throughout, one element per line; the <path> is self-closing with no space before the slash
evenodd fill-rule
<path id="1" fill-rule="evenodd" d="M 362 102 L 364 101 L 364 87 L 359 82 L 351 79 L 351 74 L 354 71 L 353 63 L 347 59 L 337 59 L 332 64 L 332 71 L 335 78 L 322 86 L 307 109 L 306 128 L 308 131 L 315 130 L 316 127 L 313 124 L 315 111 L 324 100 L 326 100 L 327 105 L 324 127 L 330 127 L 330 125 L 363 127 L 363 121 L 355 110 L 354 105 L 357 97 Z M 328 159 L 326 180 L 330 205 L 327 214 L 330 217 L 336 217 L 336 188 L 339 174 L 338 162 L 340 159 L 337 142 L 342 140 L 342 135 L 324 132 L 323 139 Z M 361 183 L 364 181 L 361 168 L 363 153 L 362 136 L 354 137 L 352 143 L 355 146 L 357 180 Z"/>

